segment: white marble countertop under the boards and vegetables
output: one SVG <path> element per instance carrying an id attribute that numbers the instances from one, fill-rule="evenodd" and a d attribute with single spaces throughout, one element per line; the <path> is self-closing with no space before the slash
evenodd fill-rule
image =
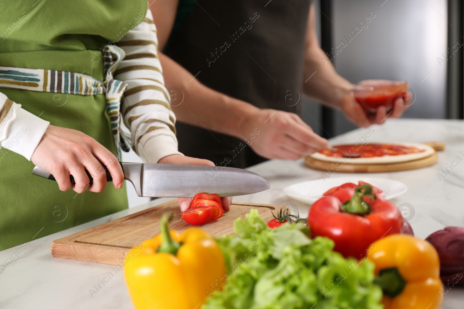
<path id="1" fill-rule="evenodd" d="M 375 173 L 369 176 L 391 178 L 406 183 L 407 192 L 396 197 L 392 202 L 400 206 L 402 203 L 409 203 L 412 210 L 410 222 L 419 238 L 424 239 L 430 233 L 445 226 L 464 227 L 464 163 L 458 164 L 449 175 L 441 179 L 441 182 L 437 176 L 438 173 L 444 175 L 441 169 L 446 168 L 447 164 L 451 164 L 457 157 L 464 158 L 464 121 L 389 120 L 386 125 L 374 126 L 374 129 L 375 132 L 368 139 L 369 142 L 446 142 L 446 150 L 439 153 L 438 164 L 419 170 Z M 353 143 L 365 132 L 367 129 L 357 129 L 337 136 L 331 142 Z M 299 211 L 303 216 L 307 215 L 309 206 L 290 199 L 284 194 L 283 189 L 293 183 L 322 178 L 323 173 L 306 168 L 303 160 L 271 160 L 253 166 L 250 170 L 262 175 L 271 183 L 271 189 L 252 195 L 238 196 L 234 198 L 235 201 L 285 204 Z M 332 177 L 352 175 L 336 173 Z M 13 263 L 4 271 L 0 271 L 0 308 L 132 308 L 121 271 L 117 272 L 112 265 L 53 258 L 50 245 L 53 240 L 168 200 L 170 199 L 158 199 L 26 243 L 27 248 L 19 254 L 19 259 L 13 256 L 15 259 Z M 1 251 L 0 264 L 12 258 L 19 247 Z M 108 279 L 109 277 L 111 278 Z M 104 286 L 100 284 L 102 288 L 97 293 L 91 293 L 90 289 L 97 291 L 94 284 L 99 284 L 100 280 L 109 282 Z M 450 286 L 445 289 L 442 308 L 464 308 L 464 288 Z"/>

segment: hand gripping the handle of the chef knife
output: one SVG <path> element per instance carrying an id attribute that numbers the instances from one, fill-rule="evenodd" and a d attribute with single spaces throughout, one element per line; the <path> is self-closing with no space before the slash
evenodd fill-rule
<path id="1" fill-rule="evenodd" d="M 77 193 L 87 188 L 101 192 L 106 186 L 106 172 L 113 177 L 116 189 L 122 188 L 124 173 L 115 155 L 83 132 L 49 125 L 31 158 L 32 163 L 51 173 L 62 191 L 72 188 Z M 100 163 L 101 162 L 101 163 Z M 93 178 L 85 173 L 88 170 Z M 72 175 L 76 184 L 71 185 Z"/>

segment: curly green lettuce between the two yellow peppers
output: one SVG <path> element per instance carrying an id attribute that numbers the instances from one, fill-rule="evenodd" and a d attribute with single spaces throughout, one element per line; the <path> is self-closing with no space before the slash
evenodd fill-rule
<path id="1" fill-rule="evenodd" d="M 271 229 L 252 209 L 234 231 L 217 239 L 228 273 L 203 309 L 383 308 L 374 265 L 343 258 L 329 238 L 309 239 L 305 225 Z"/>

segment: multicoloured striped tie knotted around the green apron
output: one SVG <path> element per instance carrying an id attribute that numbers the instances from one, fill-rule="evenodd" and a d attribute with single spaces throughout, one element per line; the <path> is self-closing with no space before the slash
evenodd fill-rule
<path id="1" fill-rule="evenodd" d="M 121 159 L 121 149 L 130 150 L 130 132 L 121 129 L 120 112 L 122 96 L 127 84 L 114 79 L 113 72 L 123 58 L 124 51 L 115 45 L 107 45 L 103 49 L 104 82 L 82 73 L 0 66 L 0 88 L 72 95 L 105 94 L 117 157 Z"/>

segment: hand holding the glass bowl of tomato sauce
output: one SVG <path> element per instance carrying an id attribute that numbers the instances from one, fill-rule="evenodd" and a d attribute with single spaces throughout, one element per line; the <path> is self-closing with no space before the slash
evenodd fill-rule
<path id="1" fill-rule="evenodd" d="M 381 84 L 390 84 L 390 81 L 387 80 L 365 80 L 357 84 L 357 86 L 369 87 L 369 86 L 378 86 Z M 399 118 L 406 109 L 411 105 L 410 101 L 412 100 L 412 95 L 410 92 L 406 93 L 399 99 L 396 99 L 393 103 L 393 110 L 387 113 L 387 108 L 385 106 L 380 106 L 377 108 L 375 114 L 369 113 L 364 110 L 361 105 L 354 100 L 351 92 L 348 92 L 340 102 L 340 107 L 342 108 L 345 116 L 353 121 L 356 125 L 362 127 L 368 127 L 371 124 L 381 124 L 387 118 Z"/>

